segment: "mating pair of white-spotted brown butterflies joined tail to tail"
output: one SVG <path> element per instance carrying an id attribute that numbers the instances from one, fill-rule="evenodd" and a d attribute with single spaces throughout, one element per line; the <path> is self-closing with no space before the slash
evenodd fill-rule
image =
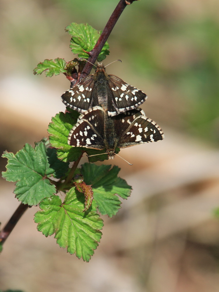
<path id="1" fill-rule="evenodd" d="M 69 145 L 106 149 L 108 159 L 113 159 L 116 147 L 164 138 L 161 128 L 137 108 L 146 100 L 145 93 L 106 74 L 102 63 L 95 72 L 62 94 L 66 106 L 82 113 L 69 133 Z"/>

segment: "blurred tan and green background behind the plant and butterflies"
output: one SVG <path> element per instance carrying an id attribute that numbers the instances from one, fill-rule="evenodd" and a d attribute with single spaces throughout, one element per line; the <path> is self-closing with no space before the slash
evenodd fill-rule
<path id="1" fill-rule="evenodd" d="M 48 135 L 51 117 L 65 111 L 65 76 L 33 75 L 44 59 L 75 58 L 65 26 L 87 22 L 103 29 L 117 3 L 1 0 L 1 153 L 34 145 Z M 114 218 L 103 218 L 89 263 L 37 232 L 39 208 L 27 210 L 4 245 L 0 290 L 219 291 L 218 10 L 217 0 L 142 0 L 125 8 L 104 64 L 122 59 L 107 73 L 147 93 L 142 108 L 165 139 L 122 149 L 133 166 L 118 157 L 110 161 L 133 191 Z M 1 158 L 1 171 L 5 165 Z M 14 183 L 0 181 L 4 226 L 19 202 Z"/>

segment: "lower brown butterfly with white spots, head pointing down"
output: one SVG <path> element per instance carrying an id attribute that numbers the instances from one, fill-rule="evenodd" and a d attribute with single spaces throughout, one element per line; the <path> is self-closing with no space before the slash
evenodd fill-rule
<path id="1" fill-rule="evenodd" d="M 139 108 L 109 117 L 107 109 L 95 106 L 79 116 L 69 133 L 68 144 L 73 147 L 106 149 L 108 159 L 113 159 L 117 147 L 157 142 L 163 138 L 161 128 Z"/>

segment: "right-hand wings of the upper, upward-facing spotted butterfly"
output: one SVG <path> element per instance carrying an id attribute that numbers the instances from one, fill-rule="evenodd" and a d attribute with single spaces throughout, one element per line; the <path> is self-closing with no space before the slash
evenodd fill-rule
<path id="1" fill-rule="evenodd" d="M 107 82 L 109 116 L 135 109 L 147 99 L 144 92 L 125 83 L 115 75 L 109 74 Z"/>

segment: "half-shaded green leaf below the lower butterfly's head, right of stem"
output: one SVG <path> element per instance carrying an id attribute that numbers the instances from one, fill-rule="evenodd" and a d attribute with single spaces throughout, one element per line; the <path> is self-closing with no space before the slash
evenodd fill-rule
<path id="1" fill-rule="evenodd" d="M 120 208 L 118 196 L 127 199 L 131 194 L 131 186 L 117 176 L 120 171 L 118 166 L 110 168 L 111 165 L 85 163 L 81 166 L 81 174 L 85 183 L 92 185 L 93 198 L 97 201 L 100 213 L 111 218 Z"/>

